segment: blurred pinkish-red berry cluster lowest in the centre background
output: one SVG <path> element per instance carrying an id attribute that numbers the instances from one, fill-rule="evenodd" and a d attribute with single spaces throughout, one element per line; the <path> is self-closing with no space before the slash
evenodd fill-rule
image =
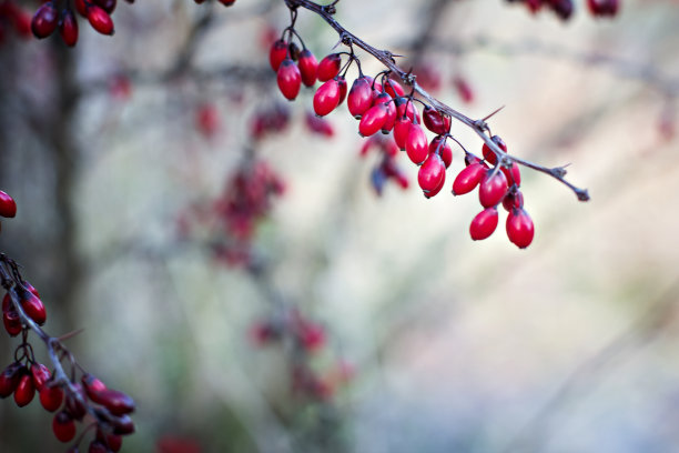
<path id="1" fill-rule="evenodd" d="M 292 343 L 297 358 L 291 370 L 294 393 L 316 401 L 327 401 L 353 374 L 353 370 L 345 362 L 340 362 L 330 371 L 320 373 L 308 360 L 302 360 L 321 351 L 326 338 L 323 325 L 305 318 L 297 308 L 290 308 L 278 316 L 254 323 L 250 334 L 259 346 Z"/>

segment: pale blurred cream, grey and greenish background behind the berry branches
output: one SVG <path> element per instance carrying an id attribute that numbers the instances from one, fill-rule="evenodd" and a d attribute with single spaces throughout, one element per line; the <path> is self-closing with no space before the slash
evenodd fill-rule
<path id="1" fill-rule="evenodd" d="M 267 63 L 262 28 L 281 29 L 288 14 L 281 4 L 255 14 L 257 3 L 266 1 L 215 4 L 217 23 L 200 41 L 197 67 Z M 429 3 L 342 0 L 337 20 L 377 48 L 407 53 Z M 580 203 L 557 181 L 523 169 L 533 244 L 519 251 L 509 243 L 504 213 L 490 239 L 473 242 L 477 198 L 449 193 L 462 153 L 434 199 L 424 199 L 405 155 L 411 189 L 387 184 L 377 198 L 368 182 L 376 155 L 358 158 L 356 122 L 343 105 L 330 115 L 335 138 L 310 135 L 303 115 L 313 91 L 303 90 L 290 105 L 292 127 L 260 150 L 288 190 L 256 246 L 273 263 L 276 288 L 327 326 L 318 366 L 341 356 L 355 368 L 321 441 L 307 435 L 320 430 L 320 412 L 291 395 L 281 350 L 249 339 L 270 311 L 256 283 L 176 236 L 178 215 L 215 198 L 235 169 L 253 109 L 282 99 L 273 84 L 143 83 L 126 101 L 92 84 L 74 130 L 81 153 L 71 201 L 88 272 L 72 316 L 57 315 L 49 299 L 60 266 L 50 255 L 54 177 L 41 158 L 50 151 L 27 127 L 6 131 L 0 188 L 14 195 L 19 215 L 2 222 L 1 250 L 45 295 L 47 330 L 84 328 L 68 342 L 81 363 L 135 397 L 138 433 L 123 451 L 154 451 L 166 435 L 203 452 L 677 447 L 678 142 L 659 128 L 677 104 L 657 87 L 679 87 L 678 4 L 624 0 L 610 21 L 577 1 L 564 24 L 499 0 L 449 3 L 432 41 L 448 50 L 429 50 L 426 60 L 445 80 L 464 74 L 475 100 L 463 104 L 449 84 L 437 97 L 473 118 L 505 105 L 490 124 L 509 151 L 571 163 L 569 180 L 592 199 Z M 81 23 L 74 77 L 92 83 L 115 71 L 166 68 L 200 8 L 209 6 L 121 2 L 112 39 Z M 337 41 L 303 10 L 297 29 L 318 59 Z M 51 78 L 51 44 L 12 46 L 22 63 L 0 71 L 27 74 L 21 90 L 39 98 Z M 363 61 L 366 72 L 378 70 Z M 205 100 L 223 119 L 212 140 L 194 127 Z M 8 101 L 2 114 L 11 111 Z M 453 132 L 480 151 L 464 127 L 454 123 Z M 1 335 L 2 365 L 10 343 Z M 1 402 L 0 451 L 60 451 L 50 423 L 37 402 L 21 410 Z"/>

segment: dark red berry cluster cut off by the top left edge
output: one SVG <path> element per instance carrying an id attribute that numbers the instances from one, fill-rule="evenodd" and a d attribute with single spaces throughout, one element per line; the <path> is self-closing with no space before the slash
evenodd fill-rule
<path id="1" fill-rule="evenodd" d="M 129 3 L 134 2 L 134 0 L 126 1 Z M 73 0 L 75 11 L 101 34 L 114 33 L 111 14 L 118 0 Z M 33 14 L 31 30 L 36 38 L 47 38 L 57 28 L 59 28 L 59 34 L 67 46 L 75 46 L 78 42 L 78 19 L 71 8 L 70 0 L 50 0 L 38 8 L 38 11 Z"/>

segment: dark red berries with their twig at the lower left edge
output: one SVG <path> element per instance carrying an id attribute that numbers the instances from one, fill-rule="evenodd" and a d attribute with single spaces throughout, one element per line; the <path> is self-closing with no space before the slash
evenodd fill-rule
<path id="1" fill-rule="evenodd" d="M 0 191 L 0 215 L 11 218 L 14 214 L 14 200 Z M 109 389 L 84 371 L 61 340 L 41 328 L 47 321 L 47 310 L 40 294 L 21 276 L 17 262 L 4 253 L 0 253 L 0 283 L 7 291 L 2 299 L 4 330 L 21 340 L 14 350 L 13 362 L 0 373 L 0 399 L 13 395 L 17 405 L 23 407 L 38 393 L 42 407 L 55 412 L 54 436 L 63 443 L 73 442 L 69 449 L 71 453 L 81 451 L 80 445 L 88 433 L 92 433 L 89 453 L 120 451 L 122 437 L 134 432 L 130 417 L 134 411 L 132 397 Z M 51 366 L 36 360 L 29 341 L 31 333 L 44 344 Z M 77 423 L 84 426 L 78 439 Z"/>

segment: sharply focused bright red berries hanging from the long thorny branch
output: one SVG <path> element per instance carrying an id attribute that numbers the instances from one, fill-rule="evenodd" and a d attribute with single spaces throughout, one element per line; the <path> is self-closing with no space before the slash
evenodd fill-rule
<path id="1" fill-rule="evenodd" d="M 294 33 L 291 28 L 286 31 L 291 37 Z M 345 56 L 347 61 L 343 64 Z M 353 62 L 358 67 L 358 77 L 347 90 L 345 74 Z M 323 82 L 313 99 L 314 112 L 320 118 L 333 112 L 346 99 L 349 113 L 359 120 L 358 133 L 369 138 L 361 153 L 365 155 L 373 147 L 382 151 L 382 162 L 371 174 L 378 194 L 389 179 L 407 188 L 407 179 L 395 164 L 398 150 L 404 150 L 409 160 L 419 165 L 417 182 L 424 195 L 435 197 L 443 189 L 446 170 L 453 162 L 450 143 L 456 143 L 465 151 L 467 168 L 455 179 L 453 193 L 468 193 L 478 185 L 479 200 L 485 208 L 472 222 L 472 239 L 486 239 L 495 231 L 498 223 L 497 205 L 501 203 L 509 212 L 509 240 L 520 249 L 530 244 L 534 226 L 524 210 L 524 198 L 518 189 L 518 164 L 505 155 L 498 157 L 487 145 L 483 149 L 483 160 L 468 153 L 450 134 L 450 117 L 416 99 L 413 92 L 406 95 L 403 87 L 389 78 L 389 72 L 382 72 L 376 78 L 364 76 L 353 51 L 332 53 L 316 63 L 316 58 L 308 49 L 300 50 L 296 44 L 284 39 L 272 44 L 270 63 L 277 71 L 281 92 L 290 100 L 297 97 L 302 83 L 314 87 L 316 81 Z M 424 105 L 422 114 L 416 102 Z M 427 139 L 427 130 L 435 134 L 430 141 Z M 493 140 L 506 151 L 506 145 L 497 135 Z"/>

